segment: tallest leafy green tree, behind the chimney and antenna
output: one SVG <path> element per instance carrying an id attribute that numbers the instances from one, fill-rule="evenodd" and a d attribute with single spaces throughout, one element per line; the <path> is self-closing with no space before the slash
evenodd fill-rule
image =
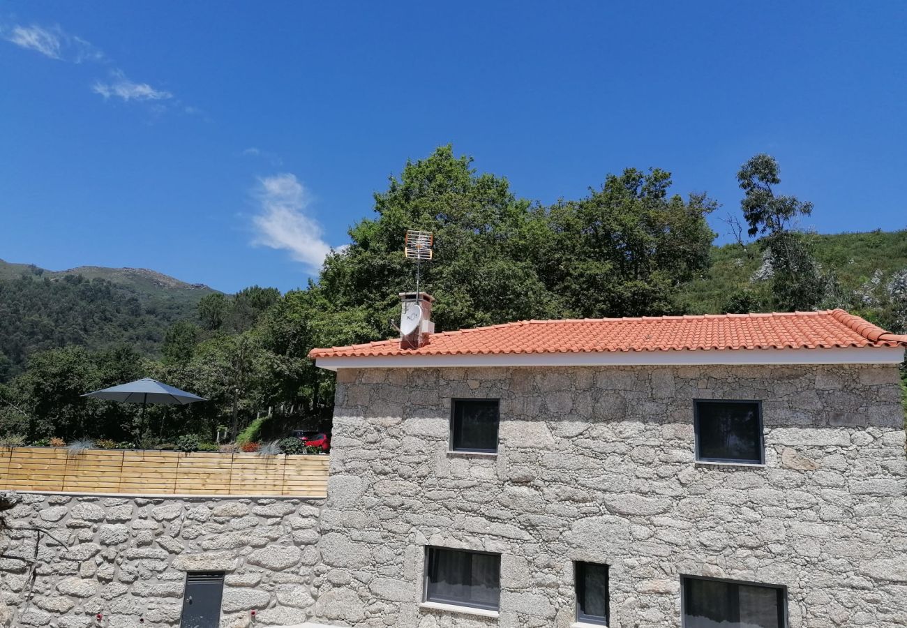
<path id="1" fill-rule="evenodd" d="M 434 232 L 434 260 L 422 264 L 421 288 L 437 298 L 438 329 L 458 329 L 557 312 L 527 255 L 528 201 L 505 179 L 477 174 L 450 146 L 407 162 L 387 191 L 375 194 L 375 218 L 356 223 L 352 243 L 328 256 L 319 285 L 334 307 L 364 308 L 370 332 L 393 334 L 397 293 L 415 287 L 405 260 L 407 229 Z"/>

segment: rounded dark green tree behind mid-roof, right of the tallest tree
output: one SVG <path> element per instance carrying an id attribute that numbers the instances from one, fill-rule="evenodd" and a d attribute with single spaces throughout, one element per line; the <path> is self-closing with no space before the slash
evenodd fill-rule
<path id="1" fill-rule="evenodd" d="M 569 314 L 666 314 L 678 287 L 707 270 L 715 234 L 706 216 L 716 203 L 668 195 L 670 185 L 669 172 L 629 168 L 551 208 L 551 237 L 533 250 Z"/>

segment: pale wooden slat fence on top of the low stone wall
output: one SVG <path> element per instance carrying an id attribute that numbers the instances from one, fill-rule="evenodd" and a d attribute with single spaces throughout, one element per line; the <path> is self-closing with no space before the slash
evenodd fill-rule
<path id="1" fill-rule="evenodd" d="M 0 449 L 0 490 L 124 495 L 327 496 L 329 456 L 54 447 Z"/>

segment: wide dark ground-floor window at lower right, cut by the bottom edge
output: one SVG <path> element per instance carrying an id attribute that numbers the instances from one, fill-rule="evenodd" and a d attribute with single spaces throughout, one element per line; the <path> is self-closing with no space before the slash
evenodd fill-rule
<path id="1" fill-rule="evenodd" d="M 785 588 L 684 576 L 683 628 L 785 628 Z"/>

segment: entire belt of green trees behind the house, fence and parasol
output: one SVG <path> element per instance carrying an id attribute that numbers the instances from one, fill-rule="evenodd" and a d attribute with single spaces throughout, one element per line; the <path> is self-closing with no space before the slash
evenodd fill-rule
<path id="1" fill-rule="evenodd" d="M 777 162 L 756 155 L 738 182 L 746 224 L 759 239 L 735 245 L 737 280 L 727 278 L 727 264 L 719 265 L 726 275 L 709 275 L 718 253 L 706 218 L 715 201 L 672 191 L 669 172 L 628 168 L 581 198 L 544 206 L 517 197 L 506 179 L 477 172 L 451 146 L 407 162 L 375 193 L 374 214 L 350 228 L 350 244 L 327 257 L 319 278 L 284 295 L 258 286 L 210 294 L 194 317 L 164 319 L 154 310 L 160 306 L 131 300 L 103 280 L 0 280 L 0 325 L 15 317 L 0 328 L 0 377 L 8 378 L 0 385 L 0 437 L 130 440 L 138 407 L 79 396 L 144 376 L 209 399 L 149 408 L 149 445 L 187 433 L 210 440 L 218 426 L 233 427 L 234 417 L 235 429 L 255 420 L 258 432 L 275 437 L 299 421 L 329 429 L 334 374 L 315 368 L 307 354 L 395 336 L 397 295 L 415 288 L 416 265 L 403 251 L 407 229 L 434 233 L 434 260 L 421 264 L 420 288 L 437 299 L 439 330 L 833 302 L 907 326 L 903 265 L 886 267 L 862 289 L 841 289 L 824 270 L 829 260 L 817 261 L 815 237 L 791 228 L 812 204 L 775 195 Z M 701 289 L 709 281 L 720 286 L 715 294 Z M 141 326 L 151 319 L 164 322 Z M 120 335 L 95 340 L 111 329 Z M 162 358 L 148 347 L 160 348 Z M 25 359 L 27 370 L 18 372 Z"/>

